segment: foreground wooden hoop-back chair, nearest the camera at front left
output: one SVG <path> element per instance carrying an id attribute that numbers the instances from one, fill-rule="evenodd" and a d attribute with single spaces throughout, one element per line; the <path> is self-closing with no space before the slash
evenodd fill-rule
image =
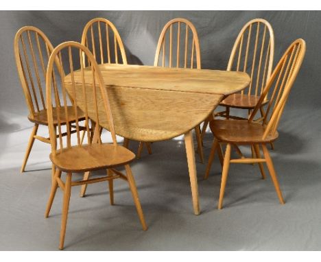
<path id="1" fill-rule="evenodd" d="M 83 60 L 84 57 L 91 64 L 89 67 L 86 67 L 86 69 Z M 55 63 L 56 61 L 58 61 L 58 65 Z M 82 76 L 79 79 L 75 79 L 73 74 L 76 69 L 79 69 L 82 73 Z M 64 78 L 67 77 L 67 74 L 65 74 L 66 71 L 70 73 L 69 76 L 71 77 L 72 84 L 64 84 Z M 56 78 L 54 75 L 56 75 Z M 88 83 L 89 79 L 91 84 Z M 77 86 L 75 83 L 77 83 Z M 59 248 L 62 249 L 64 247 L 64 235 L 66 233 L 71 187 L 82 184 L 91 184 L 108 180 L 108 182 L 110 182 L 110 204 L 113 204 L 114 198 L 112 181 L 115 178 L 126 180 L 130 186 L 130 190 L 132 191 L 132 197 L 134 198 L 134 204 L 136 205 L 136 210 L 143 226 L 143 230 L 147 230 L 134 177 L 132 176 L 132 171 L 129 165 L 129 163 L 134 160 L 135 154 L 125 147 L 117 145 L 112 113 L 108 102 L 108 93 L 106 88 L 104 88 L 102 75 L 94 56 L 80 43 L 66 42 L 58 45 L 58 47 L 53 49 L 49 58 L 46 86 L 49 134 L 51 138 L 55 138 L 57 129 L 58 142 L 56 139 L 50 140 L 50 159 L 56 167 L 56 172 L 52 180 L 45 217 L 48 217 L 53 203 L 53 198 L 56 195 L 57 188 L 60 187 L 63 191 L 63 204 Z M 57 86 L 61 86 L 60 91 Z M 68 94 L 72 94 L 74 98 L 70 112 L 69 105 L 72 104 L 72 102 L 70 101 Z M 61 101 L 60 109 L 58 109 L 57 106 L 59 101 Z M 78 106 L 82 106 L 83 110 L 80 110 Z M 62 112 L 64 112 L 64 114 L 62 114 Z M 91 113 L 90 115 L 95 116 L 93 117 L 93 121 L 95 121 L 95 133 L 93 139 L 91 139 L 89 135 L 91 127 L 90 121 L 88 121 L 88 112 Z M 71 130 L 68 124 L 73 115 L 76 116 L 76 139 L 71 139 Z M 79 121 L 77 120 L 78 115 L 84 115 L 84 118 L 86 119 L 86 145 L 81 143 Z M 57 121 L 57 128 L 55 121 Z M 112 144 L 102 143 L 99 139 L 99 123 L 102 123 L 103 121 L 108 123 L 110 128 Z M 67 123 L 65 128 L 62 126 L 62 123 Z M 67 133 L 65 139 L 62 137 L 64 132 Z M 124 166 L 126 169 L 126 175 L 114 168 L 117 166 Z M 74 182 L 71 180 L 73 173 L 89 172 L 99 169 L 106 169 L 106 176 L 88 178 Z M 67 174 L 65 182 L 61 179 L 62 172 Z"/>

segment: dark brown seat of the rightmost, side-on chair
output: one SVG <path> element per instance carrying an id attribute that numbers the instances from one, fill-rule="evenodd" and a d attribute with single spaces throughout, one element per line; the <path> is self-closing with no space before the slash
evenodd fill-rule
<path id="1" fill-rule="evenodd" d="M 225 143 L 249 144 L 270 143 L 278 138 L 278 132 L 263 139 L 265 127 L 261 123 L 249 123 L 247 120 L 213 120 L 210 128 L 214 136 Z"/>

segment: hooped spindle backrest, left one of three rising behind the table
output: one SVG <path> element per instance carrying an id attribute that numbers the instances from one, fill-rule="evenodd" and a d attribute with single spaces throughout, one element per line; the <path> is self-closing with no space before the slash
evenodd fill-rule
<path id="1" fill-rule="evenodd" d="M 126 51 L 125 48 L 123 46 L 123 41 L 121 40 L 121 37 L 119 35 L 119 32 L 117 30 L 117 28 L 115 27 L 115 25 L 110 22 L 108 19 L 104 19 L 104 18 L 95 18 L 95 19 L 91 19 L 91 21 L 88 21 L 88 23 L 86 23 L 84 30 L 82 31 L 82 45 L 84 45 L 85 47 L 88 47 L 88 30 L 91 29 L 91 41 L 92 41 L 92 50 L 91 53 L 93 53 L 93 56 L 95 57 L 96 61 L 97 56 L 96 56 L 96 50 L 95 50 L 95 37 L 93 35 L 93 25 L 97 23 L 97 28 L 98 28 L 98 34 L 99 34 L 99 55 L 100 55 L 100 64 L 110 64 L 111 63 L 111 59 L 110 59 L 110 53 L 112 51 L 110 51 L 110 38 L 109 38 L 109 28 L 112 30 L 113 34 L 114 34 L 114 54 L 115 54 L 115 64 L 119 64 L 118 61 L 118 49 L 117 47 L 119 47 L 119 51 L 121 52 L 121 59 L 123 61 L 123 64 L 127 64 L 127 58 L 126 58 Z M 103 49 L 103 40 L 102 40 L 102 29 L 101 29 L 101 25 L 100 23 L 104 23 L 106 25 L 105 30 L 106 30 L 106 55 L 107 55 L 107 60 L 106 62 L 104 61 L 104 49 Z"/>

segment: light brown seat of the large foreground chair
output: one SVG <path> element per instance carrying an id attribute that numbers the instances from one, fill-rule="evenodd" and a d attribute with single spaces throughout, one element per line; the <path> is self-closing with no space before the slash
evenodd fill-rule
<path id="1" fill-rule="evenodd" d="M 121 145 L 92 144 L 82 147 L 65 148 L 50 159 L 58 169 L 65 172 L 86 172 L 116 167 L 130 163 L 136 157 L 133 152 Z"/>

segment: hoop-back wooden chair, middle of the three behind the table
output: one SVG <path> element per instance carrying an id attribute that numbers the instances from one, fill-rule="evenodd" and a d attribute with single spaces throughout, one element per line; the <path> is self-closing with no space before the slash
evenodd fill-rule
<path id="1" fill-rule="evenodd" d="M 198 32 L 190 21 L 172 19 L 163 27 L 158 38 L 154 67 L 201 69 Z M 204 163 L 200 126 L 195 127 L 195 134 L 200 160 Z"/>

